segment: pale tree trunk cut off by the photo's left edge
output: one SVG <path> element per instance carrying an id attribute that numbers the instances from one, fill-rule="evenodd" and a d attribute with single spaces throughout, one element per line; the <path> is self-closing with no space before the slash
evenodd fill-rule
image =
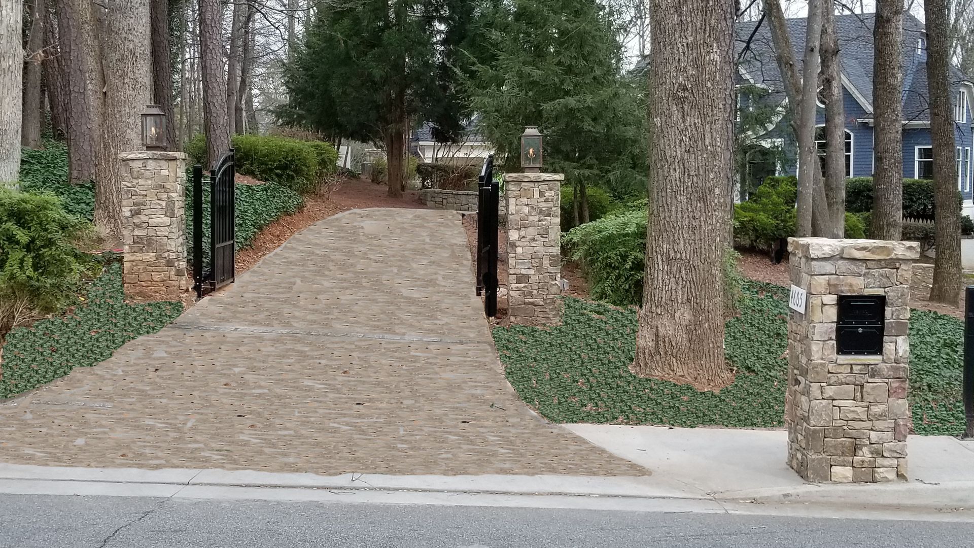
<path id="1" fill-rule="evenodd" d="M 0 186 L 15 186 L 20 171 L 22 20 L 20 0 L 0 0 Z"/>

